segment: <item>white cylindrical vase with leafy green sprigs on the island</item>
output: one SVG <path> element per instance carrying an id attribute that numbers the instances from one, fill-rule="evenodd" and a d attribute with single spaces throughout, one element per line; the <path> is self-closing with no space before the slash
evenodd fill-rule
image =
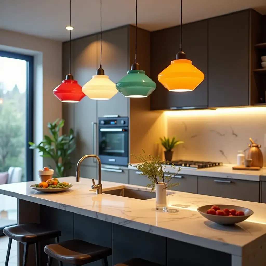
<path id="1" fill-rule="evenodd" d="M 141 175 L 147 176 L 149 184 L 147 184 L 146 189 L 151 187 L 151 192 L 155 189 L 156 193 L 156 209 L 165 210 L 166 203 L 166 189 L 172 188 L 173 186 L 178 186 L 179 182 L 172 182 L 172 179 L 180 172 L 181 168 L 176 168 L 174 164 L 171 167 L 174 169 L 173 173 L 165 171 L 167 166 L 166 160 L 161 161 L 160 156 L 147 155 L 142 150 L 143 155 L 139 153 L 136 155 L 135 152 L 131 154 L 133 158 L 140 161 L 137 165 L 131 165 L 132 167 L 137 168 Z"/>

